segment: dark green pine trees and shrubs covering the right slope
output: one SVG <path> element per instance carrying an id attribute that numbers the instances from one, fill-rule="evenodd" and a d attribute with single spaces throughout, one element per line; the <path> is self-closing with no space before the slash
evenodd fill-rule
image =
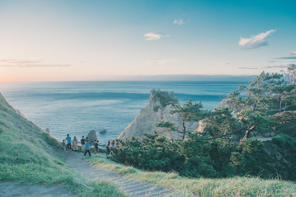
<path id="1" fill-rule="evenodd" d="M 213 111 L 202 110 L 201 102 L 190 99 L 183 105 L 176 103 L 170 113 L 178 114 L 182 128 L 169 120 L 156 126 L 181 133 L 181 139 L 169 142 L 157 133 L 146 133 L 141 141 L 135 137 L 121 141 L 123 146 L 113 149 L 111 159 L 139 169 L 174 170 L 186 177 L 280 175 L 295 181 L 296 140 L 291 138 L 296 133 L 294 64 L 285 78 L 263 71 L 248 87 L 240 85 L 232 91 L 225 98 L 226 105 Z M 161 100 L 162 95 L 166 101 L 175 98 L 173 92 L 161 90 L 153 90 L 151 98 Z M 187 126 L 192 122 L 200 123 L 198 130 Z M 278 134 L 271 142 L 258 139 Z"/>

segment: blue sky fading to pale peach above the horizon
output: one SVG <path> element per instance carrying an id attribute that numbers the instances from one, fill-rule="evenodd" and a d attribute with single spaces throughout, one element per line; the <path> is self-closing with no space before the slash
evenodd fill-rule
<path id="1" fill-rule="evenodd" d="M 295 7 L 295 0 L 0 0 L 0 82 L 280 72 L 296 64 Z"/>

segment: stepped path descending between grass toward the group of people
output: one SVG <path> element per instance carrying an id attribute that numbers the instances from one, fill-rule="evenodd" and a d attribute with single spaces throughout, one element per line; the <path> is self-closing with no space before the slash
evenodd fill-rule
<path id="1" fill-rule="evenodd" d="M 87 174 L 86 178 L 91 180 L 109 179 L 115 184 L 119 185 L 119 188 L 128 193 L 131 196 L 148 197 L 148 196 L 170 196 L 169 192 L 172 189 L 164 189 L 163 186 L 154 187 L 154 184 L 149 182 L 141 183 L 136 179 L 127 177 L 120 177 L 116 172 L 111 172 L 94 165 L 90 165 L 89 162 L 82 160 L 83 154 L 80 152 L 68 152 L 58 151 L 60 154 L 67 158 L 67 165 L 81 175 Z M 106 155 L 99 153 L 99 156 L 106 157 Z M 86 157 L 89 157 L 86 155 Z"/>

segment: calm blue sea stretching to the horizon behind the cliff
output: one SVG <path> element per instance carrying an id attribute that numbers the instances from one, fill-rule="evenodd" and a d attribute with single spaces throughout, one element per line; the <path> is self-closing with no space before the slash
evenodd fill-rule
<path id="1" fill-rule="evenodd" d="M 115 139 L 149 101 L 150 90 L 173 91 L 180 104 L 202 102 L 213 110 L 220 95 L 229 94 L 247 81 L 96 81 L 0 83 L 0 92 L 10 105 L 30 121 L 49 128 L 55 138 L 67 133 L 78 139 L 96 130 L 100 143 Z M 100 134 L 99 131 L 107 132 Z"/>

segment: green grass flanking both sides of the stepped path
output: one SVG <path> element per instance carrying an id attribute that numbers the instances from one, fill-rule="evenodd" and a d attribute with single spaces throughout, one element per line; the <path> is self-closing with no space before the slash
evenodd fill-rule
<path id="1" fill-rule="evenodd" d="M 0 94 L 0 182 L 60 185 L 79 196 L 125 196 L 109 181 L 88 182 L 70 171 L 65 158 L 55 153 L 59 146 L 59 141 L 18 114 Z M 173 196 L 296 196 L 295 182 L 279 178 L 190 179 L 175 172 L 136 170 L 103 157 L 91 157 L 90 162 L 143 182 L 173 188 Z M 81 185 L 79 179 L 93 189 Z"/>

